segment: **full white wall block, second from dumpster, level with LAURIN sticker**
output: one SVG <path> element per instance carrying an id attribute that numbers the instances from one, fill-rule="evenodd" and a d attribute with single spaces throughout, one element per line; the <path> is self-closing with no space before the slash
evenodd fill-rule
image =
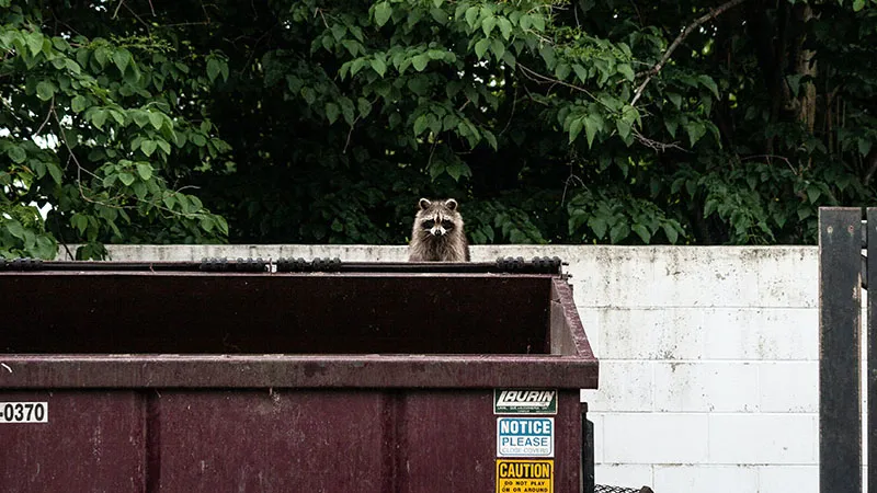
<path id="1" fill-rule="evenodd" d="M 656 363 L 654 411 L 756 412 L 759 368 L 745 362 Z"/>

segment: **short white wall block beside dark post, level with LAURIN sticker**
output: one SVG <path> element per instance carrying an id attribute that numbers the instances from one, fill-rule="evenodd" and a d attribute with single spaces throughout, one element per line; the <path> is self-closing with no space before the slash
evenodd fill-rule
<path id="1" fill-rule="evenodd" d="M 819 362 L 764 362 L 758 368 L 762 412 L 819 412 Z"/>

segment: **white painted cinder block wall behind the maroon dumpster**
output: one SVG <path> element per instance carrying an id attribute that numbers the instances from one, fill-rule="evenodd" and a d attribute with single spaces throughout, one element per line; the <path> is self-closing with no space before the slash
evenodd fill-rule
<path id="1" fill-rule="evenodd" d="M 113 260 L 339 256 L 405 246 L 110 246 Z M 558 255 L 601 359 L 582 391 L 596 481 L 657 493 L 818 491 L 815 246 L 475 246 L 474 261 Z M 864 344 L 863 344 L 864 346 Z"/>

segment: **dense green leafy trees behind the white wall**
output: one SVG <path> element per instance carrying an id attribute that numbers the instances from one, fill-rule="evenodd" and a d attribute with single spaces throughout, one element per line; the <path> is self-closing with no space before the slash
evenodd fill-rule
<path id="1" fill-rule="evenodd" d="M 15 3 L 0 256 L 401 243 L 420 196 L 475 243 L 812 242 L 875 196 L 873 0 Z"/>

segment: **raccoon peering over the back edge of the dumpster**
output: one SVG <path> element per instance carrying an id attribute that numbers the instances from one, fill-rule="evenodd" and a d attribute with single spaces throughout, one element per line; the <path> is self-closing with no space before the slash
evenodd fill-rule
<path id="1" fill-rule="evenodd" d="M 414 216 L 409 262 L 469 262 L 469 243 L 463 231 L 457 200 L 421 198 Z"/>

